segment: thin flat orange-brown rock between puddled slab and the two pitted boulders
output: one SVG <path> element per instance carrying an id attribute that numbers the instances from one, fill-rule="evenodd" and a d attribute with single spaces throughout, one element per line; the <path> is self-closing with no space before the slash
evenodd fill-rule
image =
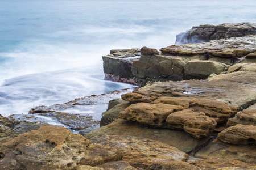
<path id="1" fill-rule="evenodd" d="M 196 101 L 196 99 L 193 97 L 160 97 L 159 99 L 154 100 L 152 103 L 180 105 L 184 109 L 187 109 L 194 101 Z"/>

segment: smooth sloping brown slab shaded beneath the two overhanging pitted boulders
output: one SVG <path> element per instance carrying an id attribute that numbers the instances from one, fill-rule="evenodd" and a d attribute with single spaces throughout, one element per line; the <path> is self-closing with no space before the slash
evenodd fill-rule
<path id="1" fill-rule="evenodd" d="M 210 137 L 195 139 L 190 134 L 185 133 L 185 131 L 155 129 L 121 118 L 86 134 L 85 138 L 91 139 L 100 134 L 132 135 L 138 138 L 148 138 L 174 146 L 187 153 L 196 150 L 196 148 L 204 145 L 210 139 Z"/>

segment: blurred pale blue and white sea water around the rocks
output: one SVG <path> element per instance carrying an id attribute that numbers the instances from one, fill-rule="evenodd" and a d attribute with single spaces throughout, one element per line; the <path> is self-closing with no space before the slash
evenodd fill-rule
<path id="1" fill-rule="evenodd" d="M 256 22 L 256 2 L 0 0 L 0 114 L 129 84 L 104 80 L 110 49 L 160 49 L 200 24 Z"/>

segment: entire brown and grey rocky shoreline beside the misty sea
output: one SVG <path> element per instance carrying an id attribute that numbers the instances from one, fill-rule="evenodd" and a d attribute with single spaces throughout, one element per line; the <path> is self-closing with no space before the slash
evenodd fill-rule
<path id="1" fill-rule="evenodd" d="M 105 79 L 140 88 L 0 116 L 1 169 L 256 169 L 256 24 L 177 41 L 102 57 Z M 100 121 L 72 114 L 92 105 Z"/>

